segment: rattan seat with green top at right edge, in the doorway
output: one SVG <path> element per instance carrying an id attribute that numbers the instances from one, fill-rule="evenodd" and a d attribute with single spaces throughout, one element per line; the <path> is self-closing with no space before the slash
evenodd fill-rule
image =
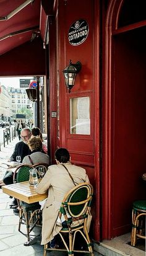
<path id="1" fill-rule="evenodd" d="M 135 246 L 137 237 L 145 236 L 146 200 L 134 201 L 132 209 L 131 245 Z"/>

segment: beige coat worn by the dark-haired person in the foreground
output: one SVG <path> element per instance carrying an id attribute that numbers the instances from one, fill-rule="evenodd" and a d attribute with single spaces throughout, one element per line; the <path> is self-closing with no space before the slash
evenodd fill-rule
<path id="1" fill-rule="evenodd" d="M 70 162 L 64 164 L 77 184 L 89 182 L 85 169 L 72 165 Z M 48 191 L 48 198 L 43 208 L 43 226 L 41 244 L 47 244 L 62 228 L 61 223 L 56 223 L 61 202 L 74 183 L 69 177 L 67 170 L 61 165 L 48 167 L 45 177 L 37 186 L 37 192 L 42 194 Z"/>

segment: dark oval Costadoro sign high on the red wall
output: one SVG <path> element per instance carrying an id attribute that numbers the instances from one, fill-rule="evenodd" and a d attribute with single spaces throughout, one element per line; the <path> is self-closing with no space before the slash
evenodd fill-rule
<path id="1" fill-rule="evenodd" d="M 88 37 L 88 23 L 86 20 L 76 20 L 69 29 L 69 43 L 80 45 Z"/>

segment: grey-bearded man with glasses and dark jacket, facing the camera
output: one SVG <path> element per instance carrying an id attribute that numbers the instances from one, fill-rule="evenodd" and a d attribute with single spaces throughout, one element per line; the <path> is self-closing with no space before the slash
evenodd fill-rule
<path id="1" fill-rule="evenodd" d="M 11 161 L 16 161 L 16 157 L 20 156 L 21 157 L 21 162 L 23 161 L 25 156 L 28 156 L 32 153 L 30 148 L 28 147 L 28 139 L 31 137 L 31 131 L 29 128 L 24 128 L 21 130 L 21 139 L 22 141 L 19 141 L 17 144 L 15 144 L 14 152 L 12 156 L 9 159 L 9 162 Z M 13 183 L 13 172 L 7 171 L 6 174 L 4 175 L 3 179 L 0 180 L 0 187 L 4 185 L 9 185 Z M 17 205 L 17 200 L 12 201 L 10 206 L 15 206 Z"/>

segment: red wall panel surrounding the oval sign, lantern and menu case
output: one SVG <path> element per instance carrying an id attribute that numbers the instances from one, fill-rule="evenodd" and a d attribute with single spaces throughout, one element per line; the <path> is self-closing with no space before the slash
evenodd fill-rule
<path id="1" fill-rule="evenodd" d="M 93 5 L 90 1 L 67 1 L 65 5 L 63 1 L 62 6 L 59 9 L 59 17 L 64 16 L 64 19 L 59 19 L 59 52 L 63 58 L 63 61 L 60 61 L 60 90 L 62 92 L 60 98 L 60 120 L 61 126 L 64 128 L 66 133 L 62 133 L 61 143 L 64 144 L 69 152 L 71 152 L 72 161 L 76 164 L 83 164 L 88 167 L 94 166 L 94 55 L 93 55 Z M 82 9 L 82 12 L 80 12 Z M 72 11 L 71 11 L 72 10 Z M 84 43 L 72 46 L 68 40 L 68 31 L 72 23 L 78 19 L 85 19 L 89 25 L 89 34 Z M 63 37 L 62 37 L 63 35 Z M 77 74 L 77 79 L 75 81 L 75 86 L 71 90 L 71 94 L 65 87 L 64 77 L 62 70 L 69 65 L 69 60 L 72 60 L 72 63 L 80 61 L 82 63 L 82 69 L 79 74 Z M 64 93 L 64 94 L 63 94 Z M 71 135 L 69 132 L 69 99 L 71 97 L 82 97 L 82 96 L 91 97 L 91 126 L 92 132 L 91 135 Z M 65 120 L 64 122 L 64 113 Z M 94 172 L 94 169 L 92 170 Z M 89 173 L 90 175 L 90 173 Z M 92 177 L 93 175 L 91 175 Z"/>

